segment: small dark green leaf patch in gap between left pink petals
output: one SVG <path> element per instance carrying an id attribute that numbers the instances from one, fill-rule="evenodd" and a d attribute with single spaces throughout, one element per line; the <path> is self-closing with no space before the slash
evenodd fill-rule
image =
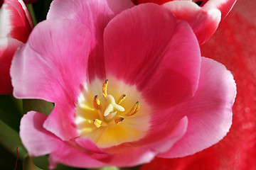
<path id="1" fill-rule="evenodd" d="M 28 111 L 37 111 L 49 115 L 53 111 L 54 105 L 48 101 L 39 99 L 23 99 L 23 113 Z"/>

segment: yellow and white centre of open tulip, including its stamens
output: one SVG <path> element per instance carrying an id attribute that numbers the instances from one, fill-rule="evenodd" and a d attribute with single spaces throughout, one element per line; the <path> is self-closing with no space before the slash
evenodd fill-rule
<path id="1" fill-rule="evenodd" d="M 146 113 L 150 107 L 140 108 L 141 103 L 146 105 L 146 102 L 136 87 L 112 81 L 118 86 L 108 85 L 108 80 L 101 88 L 98 80 L 91 84 L 95 89 L 86 86 L 76 104 L 75 123 L 80 137 L 89 137 L 98 147 L 139 140 L 149 129 L 150 118 Z M 120 94 L 119 91 L 127 92 L 125 90 L 127 94 Z M 140 102 L 135 101 L 136 98 Z"/>

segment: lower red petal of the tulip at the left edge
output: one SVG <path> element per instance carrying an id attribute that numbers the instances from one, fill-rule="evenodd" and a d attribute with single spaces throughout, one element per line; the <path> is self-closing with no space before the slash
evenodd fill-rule
<path id="1" fill-rule="evenodd" d="M 0 38 L 0 94 L 11 94 L 10 67 L 11 60 L 17 48 L 23 45 L 23 42 L 14 38 Z"/>

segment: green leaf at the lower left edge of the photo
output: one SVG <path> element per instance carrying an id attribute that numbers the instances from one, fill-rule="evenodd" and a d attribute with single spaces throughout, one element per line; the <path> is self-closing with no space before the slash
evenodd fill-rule
<path id="1" fill-rule="evenodd" d="M 10 128 L 3 121 L 0 120 L 0 144 L 4 146 L 9 152 L 16 155 L 16 148 L 18 147 L 18 158 L 25 159 L 28 155 L 25 147 L 21 143 L 21 138 L 18 132 Z"/>

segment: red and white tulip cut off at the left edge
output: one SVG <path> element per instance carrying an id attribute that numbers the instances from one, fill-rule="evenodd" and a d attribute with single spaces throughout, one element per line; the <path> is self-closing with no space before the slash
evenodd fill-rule
<path id="1" fill-rule="evenodd" d="M 28 39 L 33 22 L 21 0 L 0 1 L 0 6 L 0 94 L 11 94 L 11 60 L 16 49 Z"/>

